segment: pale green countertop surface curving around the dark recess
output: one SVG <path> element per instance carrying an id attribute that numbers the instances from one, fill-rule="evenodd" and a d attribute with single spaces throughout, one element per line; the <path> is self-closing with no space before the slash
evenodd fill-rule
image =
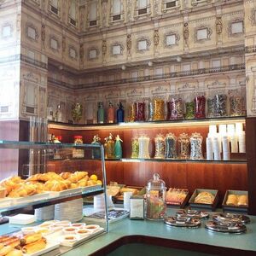
<path id="1" fill-rule="evenodd" d="M 177 209 L 169 209 L 168 215 L 174 215 Z M 212 215 L 212 212 L 211 212 Z M 148 220 L 130 220 L 125 218 L 119 222 L 110 224 L 108 234 L 73 248 L 64 253 L 65 256 L 88 255 L 102 247 L 107 247 L 113 241 L 123 236 L 152 236 L 177 241 L 189 241 L 196 244 L 215 247 L 228 247 L 239 250 L 253 251 L 256 255 L 256 217 L 250 216 L 251 223 L 247 224 L 247 232 L 240 235 L 211 232 L 205 229 L 203 220 L 201 227 L 197 229 L 173 228 L 162 222 Z M 196 247 L 196 245 L 195 245 Z"/>

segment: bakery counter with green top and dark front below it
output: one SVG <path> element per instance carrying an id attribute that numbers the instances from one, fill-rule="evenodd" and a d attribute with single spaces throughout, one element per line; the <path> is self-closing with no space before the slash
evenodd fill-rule
<path id="1" fill-rule="evenodd" d="M 175 212 L 177 209 L 169 209 L 168 215 Z M 256 255 L 256 217 L 250 218 L 247 232 L 240 235 L 208 231 L 204 227 L 206 220 L 197 229 L 183 229 L 169 227 L 162 222 L 125 218 L 110 224 L 108 234 L 75 247 L 64 255 L 122 255 L 125 250 L 132 252 L 132 249 L 137 252 L 142 250 L 145 254 L 147 248 L 151 253 L 159 252 L 159 255 Z M 146 254 L 152 255 L 150 252 Z"/>

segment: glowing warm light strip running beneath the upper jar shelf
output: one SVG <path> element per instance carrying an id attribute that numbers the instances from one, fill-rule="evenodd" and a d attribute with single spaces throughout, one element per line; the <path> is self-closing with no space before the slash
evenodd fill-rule
<path id="1" fill-rule="evenodd" d="M 194 121 L 170 121 L 160 123 L 120 123 L 117 125 L 59 125 L 49 124 L 50 129 L 60 129 L 68 131 L 90 131 L 90 130 L 124 130 L 124 129 L 143 129 L 143 128 L 169 128 L 169 127 L 191 127 L 191 126 L 206 126 L 206 125 L 229 125 L 236 123 L 245 123 L 245 119 L 202 119 Z"/>

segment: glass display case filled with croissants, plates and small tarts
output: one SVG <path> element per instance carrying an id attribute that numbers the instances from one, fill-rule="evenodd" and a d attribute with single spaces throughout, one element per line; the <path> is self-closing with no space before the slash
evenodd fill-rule
<path id="1" fill-rule="evenodd" d="M 83 157 L 73 158 L 74 150 L 83 150 Z M 16 154 L 18 162 L 12 159 Z M 9 218 L 9 224 L 1 224 L 0 236 L 17 233 L 20 237 L 27 235 L 26 229 L 41 230 L 45 246 L 38 250 L 40 255 L 51 248 L 56 254 L 66 252 L 108 232 L 102 145 L 0 141 L 0 155 L 0 217 L 17 214 L 17 218 Z M 93 205 L 95 195 L 100 208 Z M 88 212 L 97 211 L 105 212 L 102 218 L 86 219 Z M 18 218 L 20 212 L 32 220 L 26 223 Z"/>

